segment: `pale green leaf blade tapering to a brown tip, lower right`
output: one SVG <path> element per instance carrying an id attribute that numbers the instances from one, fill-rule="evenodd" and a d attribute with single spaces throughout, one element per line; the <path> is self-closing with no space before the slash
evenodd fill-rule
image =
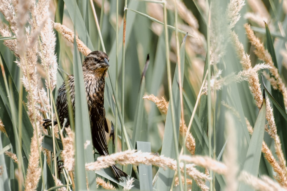
<path id="1" fill-rule="evenodd" d="M 246 161 L 243 167 L 244 171 L 249 172 L 255 177 L 257 177 L 259 170 L 261 148 L 265 129 L 265 119 L 266 119 L 266 103 L 265 103 L 265 94 L 263 92 L 263 102 L 254 125 L 253 134 L 246 155 Z M 245 184 L 241 184 L 239 186 L 239 190 L 253 190 L 253 189 L 251 189 L 249 186 Z"/>

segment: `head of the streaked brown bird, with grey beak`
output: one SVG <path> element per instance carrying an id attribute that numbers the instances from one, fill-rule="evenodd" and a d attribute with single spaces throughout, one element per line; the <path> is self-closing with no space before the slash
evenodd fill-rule
<path id="1" fill-rule="evenodd" d="M 110 66 L 108 55 L 102 51 L 94 51 L 85 58 L 82 68 L 83 72 L 94 74 L 105 74 Z"/>

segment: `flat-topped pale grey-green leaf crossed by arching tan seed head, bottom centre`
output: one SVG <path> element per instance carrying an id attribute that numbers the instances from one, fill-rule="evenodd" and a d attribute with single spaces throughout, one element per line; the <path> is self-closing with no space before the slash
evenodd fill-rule
<path id="1" fill-rule="evenodd" d="M 137 151 L 141 152 L 151 152 L 149 142 L 136 142 Z M 139 165 L 139 185 L 141 190 L 152 190 L 152 166 L 140 164 Z"/>

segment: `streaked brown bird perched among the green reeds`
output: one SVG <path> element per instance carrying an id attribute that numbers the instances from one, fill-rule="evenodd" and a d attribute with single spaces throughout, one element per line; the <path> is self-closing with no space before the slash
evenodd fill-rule
<path id="1" fill-rule="evenodd" d="M 108 61 L 108 55 L 105 52 L 97 50 L 88 54 L 82 64 L 88 111 L 90 115 L 92 143 L 98 153 L 105 156 L 109 155 L 105 135 L 105 132 L 108 133 L 108 123 L 104 109 L 105 76 L 108 67 L 110 66 Z M 73 75 L 69 75 L 63 82 L 63 85 L 58 89 L 56 107 L 59 115 L 59 122 L 62 126 L 64 124 L 64 119 L 67 120 L 65 126 L 70 124 L 67 96 L 69 96 L 71 100 L 73 114 L 75 114 L 75 112 L 77 112 L 77 108 L 75 108 L 75 96 L 77 95 L 75 95 Z M 54 121 L 54 124 L 57 124 L 57 121 Z M 51 119 L 44 119 L 43 126 L 46 128 L 49 125 L 51 125 Z M 127 174 L 117 166 L 113 165 L 111 166 L 111 169 L 118 181 L 122 181 L 121 177 L 127 177 Z"/>

